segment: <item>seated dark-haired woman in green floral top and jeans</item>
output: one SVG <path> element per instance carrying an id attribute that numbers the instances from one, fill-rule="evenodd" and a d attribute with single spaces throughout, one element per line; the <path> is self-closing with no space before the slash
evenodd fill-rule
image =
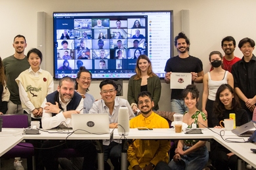
<path id="1" fill-rule="evenodd" d="M 205 114 L 198 110 L 199 91 L 194 84 L 186 86 L 182 92 L 184 103 L 188 107 L 188 112 L 184 113 L 183 122 L 191 128 L 192 124 L 196 127 L 207 127 Z M 209 154 L 205 146 L 206 141 L 200 140 L 179 140 L 175 149 L 175 156 L 170 161 L 169 167 L 175 169 L 203 169 L 207 164 Z"/>

